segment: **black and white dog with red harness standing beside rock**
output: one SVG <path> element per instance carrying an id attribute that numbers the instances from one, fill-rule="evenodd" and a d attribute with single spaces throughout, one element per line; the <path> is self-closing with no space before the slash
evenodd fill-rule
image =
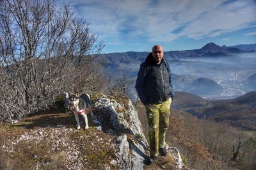
<path id="1" fill-rule="evenodd" d="M 92 107 L 90 105 L 89 95 L 84 93 L 79 97 L 79 95 L 77 93 L 76 94 L 68 94 L 68 93 L 64 92 L 63 100 L 64 100 L 64 104 L 67 107 L 70 106 L 75 114 L 75 118 L 76 118 L 76 122 L 77 122 L 77 130 L 81 128 L 79 118 L 78 118 L 79 114 L 81 114 L 84 118 L 84 122 L 85 122 L 84 128 L 85 129 L 89 128 L 88 118 L 87 118 L 86 113 L 90 112 L 91 116 L 93 116 Z"/>

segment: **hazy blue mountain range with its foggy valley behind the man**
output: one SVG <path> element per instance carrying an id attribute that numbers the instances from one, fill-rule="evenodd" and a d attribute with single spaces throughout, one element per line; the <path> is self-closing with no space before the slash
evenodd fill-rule
<path id="1" fill-rule="evenodd" d="M 207 43 L 201 49 L 165 51 L 175 91 L 186 91 L 200 97 L 234 98 L 256 90 L 256 44 L 222 47 Z M 136 79 L 140 64 L 149 52 L 116 52 L 102 54 L 115 77 Z M 129 91 L 136 98 L 134 84 Z M 132 97 L 133 96 L 133 97 Z"/>

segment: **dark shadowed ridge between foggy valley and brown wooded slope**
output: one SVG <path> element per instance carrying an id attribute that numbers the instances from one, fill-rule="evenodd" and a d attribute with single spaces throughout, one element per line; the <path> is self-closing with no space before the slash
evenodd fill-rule
<path id="1" fill-rule="evenodd" d="M 198 118 L 225 122 L 243 130 L 256 130 L 256 92 L 228 100 L 208 100 L 185 92 L 175 92 L 173 108 Z"/>

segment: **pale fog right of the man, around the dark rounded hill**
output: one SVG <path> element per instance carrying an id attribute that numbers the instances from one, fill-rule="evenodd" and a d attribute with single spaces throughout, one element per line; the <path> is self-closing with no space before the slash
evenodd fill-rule
<path id="1" fill-rule="evenodd" d="M 256 73 L 256 53 L 222 57 L 168 59 L 168 62 L 172 72 L 176 75 L 182 75 L 188 79 L 205 77 L 220 84 L 225 90 L 221 95 L 216 95 L 214 98 L 233 98 L 248 91 L 256 90 L 256 85 L 253 88 L 256 79 L 252 77 Z M 205 97 L 212 96 L 205 95 Z"/>

